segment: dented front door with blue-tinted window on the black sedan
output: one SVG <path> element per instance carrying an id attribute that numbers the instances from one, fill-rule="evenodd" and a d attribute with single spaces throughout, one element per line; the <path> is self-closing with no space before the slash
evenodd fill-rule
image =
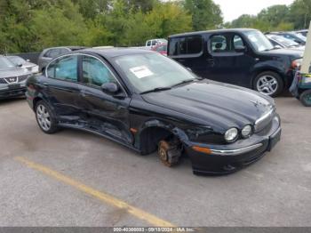
<path id="1" fill-rule="evenodd" d="M 104 133 L 118 141 L 132 144 L 129 124 L 130 98 L 118 82 L 116 75 L 103 60 L 89 55 L 81 57 L 82 80 L 79 84 L 84 117 L 92 130 Z M 102 92 L 101 85 L 116 83 L 124 97 Z"/>

